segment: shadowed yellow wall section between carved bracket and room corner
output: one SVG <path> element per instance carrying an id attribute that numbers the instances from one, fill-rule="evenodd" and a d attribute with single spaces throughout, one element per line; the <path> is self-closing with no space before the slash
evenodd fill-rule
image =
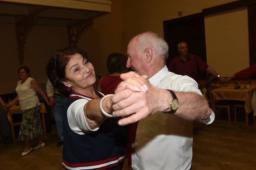
<path id="1" fill-rule="evenodd" d="M 79 41 L 78 46 L 88 53 L 96 74 L 107 75 L 107 56 L 123 52 L 122 13 L 120 1 L 115 1 L 111 13 L 95 18 L 92 29 L 86 31 Z"/>

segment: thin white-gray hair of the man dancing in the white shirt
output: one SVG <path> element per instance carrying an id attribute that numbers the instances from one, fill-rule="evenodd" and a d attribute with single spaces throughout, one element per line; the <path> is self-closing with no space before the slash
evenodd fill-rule
<path id="1" fill-rule="evenodd" d="M 144 50 L 147 47 L 153 49 L 153 53 L 155 52 L 157 56 L 162 57 L 162 59 L 166 60 L 168 58 L 168 44 L 167 42 L 159 37 L 154 32 L 143 32 L 136 36 L 137 42 L 139 42 L 139 49 Z"/>

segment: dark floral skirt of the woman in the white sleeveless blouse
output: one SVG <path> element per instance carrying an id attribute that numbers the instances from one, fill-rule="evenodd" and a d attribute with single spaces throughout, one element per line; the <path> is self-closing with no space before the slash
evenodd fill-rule
<path id="1" fill-rule="evenodd" d="M 40 115 L 40 106 L 22 110 L 22 123 L 18 141 L 33 139 L 43 133 Z"/>

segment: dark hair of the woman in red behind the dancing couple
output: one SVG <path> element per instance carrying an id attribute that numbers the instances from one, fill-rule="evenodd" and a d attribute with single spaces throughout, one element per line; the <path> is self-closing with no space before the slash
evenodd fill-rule
<path id="1" fill-rule="evenodd" d="M 109 73 L 122 73 L 126 68 L 126 57 L 121 53 L 112 53 L 108 56 L 107 68 Z"/>

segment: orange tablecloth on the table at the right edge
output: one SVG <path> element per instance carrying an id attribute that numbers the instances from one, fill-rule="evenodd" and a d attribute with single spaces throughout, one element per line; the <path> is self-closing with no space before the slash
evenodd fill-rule
<path id="1" fill-rule="evenodd" d="M 241 85 L 241 87 L 243 87 Z M 212 90 L 212 100 L 238 100 L 245 101 L 244 108 L 246 113 L 252 112 L 252 96 L 254 93 L 255 85 L 246 89 L 234 89 L 234 87 L 221 87 Z"/>

